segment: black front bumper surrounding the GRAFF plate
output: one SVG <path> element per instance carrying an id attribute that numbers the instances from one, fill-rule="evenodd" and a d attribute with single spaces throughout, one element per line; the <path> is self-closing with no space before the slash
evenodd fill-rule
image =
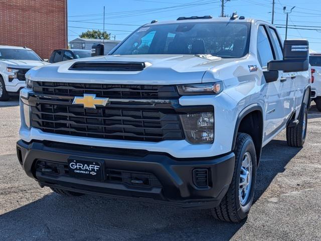
<path id="1" fill-rule="evenodd" d="M 46 141 L 27 143 L 22 140 L 17 143 L 17 153 L 27 175 L 36 179 L 41 186 L 190 208 L 211 208 L 220 203 L 232 180 L 235 162 L 234 153 L 211 158 L 181 159 L 166 153 L 145 150 L 100 148 Z M 53 174 L 37 169 L 38 163 L 42 161 L 66 167 L 71 156 L 75 159 L 103 160 L 106 173 L 116 170 L 119 171 L 116 173 L 123 176 L 98 182 L 70 177 L 67 171 L 63 174 Z M 195 184 L 195 169 L 206 170 L 208 186 L 198 187 Z M 128 182 L 128 178 L 136 179 L 137 176 L 151 180 L 141 185 Z"/>

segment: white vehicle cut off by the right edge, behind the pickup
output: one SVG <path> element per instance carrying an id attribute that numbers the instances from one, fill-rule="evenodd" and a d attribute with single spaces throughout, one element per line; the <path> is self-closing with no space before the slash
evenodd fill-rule
<path id="1" fill-rule="evenodd" d="M 311 98 L 316 103 L 316 108 L 321 111 L 321 53 L 310 54 L 311 65 Z"/>

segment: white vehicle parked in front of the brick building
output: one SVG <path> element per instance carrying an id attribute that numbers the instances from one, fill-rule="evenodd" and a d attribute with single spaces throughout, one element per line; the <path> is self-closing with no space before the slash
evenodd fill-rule
<path id="1" fill-rule="evenodd" d="M 31 49 L 0 45 L 0 101 L 26 86 L 25 74 L 31 68 L 46 64 Z"/>

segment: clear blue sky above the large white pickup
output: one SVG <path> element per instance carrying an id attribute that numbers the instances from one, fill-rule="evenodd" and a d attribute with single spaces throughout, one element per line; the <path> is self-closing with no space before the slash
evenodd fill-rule
<path id="1" fill-rule="evenodd" d="M 273 0 L 226 0 L 225 14 L 237 11 L 239 16 L 271 23 Z M 178 17 L 221 14 L 221 0 L 68 0 L 68 41 L 87 30 L 105 30 L 111 39 L 123 40 L 139 26 L 152 20 L 176 20 Z M 275 0 L 274 24 L 285 39 L 286 15 L 289 14 L 287 39 L 307 39 L 310 49 L 321 52 L 321 0 Z M 302 30 L 310 29 L 310 30 Z"/>

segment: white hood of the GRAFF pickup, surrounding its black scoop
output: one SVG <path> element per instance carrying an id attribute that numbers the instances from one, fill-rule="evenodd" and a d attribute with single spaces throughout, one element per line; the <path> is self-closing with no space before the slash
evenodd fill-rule
<path id="1" fill-rule="evenodd" d="M 35 68 L 28 72 L 27 78 L 71 83 L 188 84 L 200 83 L 207 70 L 233 61 L 235 59 L 194 55 L 103 56 Z M 146 68 L 142 71 L 69 70 L 76 62 L 144 62 Z"/>

